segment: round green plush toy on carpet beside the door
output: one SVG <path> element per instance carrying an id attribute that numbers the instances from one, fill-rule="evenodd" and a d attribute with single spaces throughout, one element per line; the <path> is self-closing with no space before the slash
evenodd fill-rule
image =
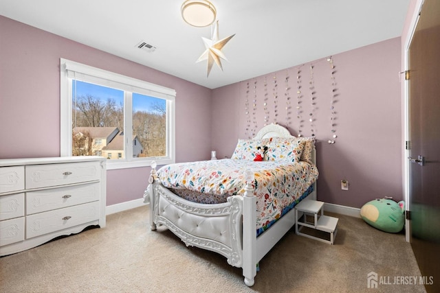
<path id="1" fill-rule="evenodd" d="M 371 200 L 360 209 L 362 220 L 379 230 L 399 233 L 405 224 L 405 202 L 395 202 L 390 198 Z"/>

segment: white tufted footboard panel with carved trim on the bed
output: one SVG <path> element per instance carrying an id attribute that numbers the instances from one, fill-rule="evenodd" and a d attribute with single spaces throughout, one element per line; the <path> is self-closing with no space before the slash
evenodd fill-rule
<path id="1" fill-rule="evenodd" d="M 241 267 L 241 196 L 232 196 L 224 204 L 197 204 L 179 198 L 160 183 L 152 191 L 155 224 L 165 225 L 186 246 L 212 250 L 225 256 L 231 266 Z"/>

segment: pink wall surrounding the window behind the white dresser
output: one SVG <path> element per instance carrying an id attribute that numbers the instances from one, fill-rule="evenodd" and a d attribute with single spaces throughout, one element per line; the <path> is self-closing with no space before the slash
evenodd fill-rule
<path id="1" fill-rule="evenodd" d="M 210 89 L 3 16 L 0 40 L 0 159 L 60 155 L 60 58 L 175 89 L 176 161 L 210 158 Z M 108 171 L 107 205 L 142 198 L 149 172 Z"/>

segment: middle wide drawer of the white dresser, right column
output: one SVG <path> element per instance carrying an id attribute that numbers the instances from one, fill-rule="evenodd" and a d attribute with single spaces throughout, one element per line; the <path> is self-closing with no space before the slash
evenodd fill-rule
<path id="1" fill-rule="evenodd" d="M 71 207 L 100 199 L 100 183 L 26 192 L 26 214 Z"/>

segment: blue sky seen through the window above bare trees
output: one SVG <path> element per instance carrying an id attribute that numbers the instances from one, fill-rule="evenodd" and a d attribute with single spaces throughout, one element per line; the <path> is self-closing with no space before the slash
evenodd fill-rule
<path id="1" fill-rule="evenodd" d="M 114 99 L 117 105 L 124 104 L 124 91 L 79 80 L 72 85 L 73 97 L 75 97 L 75 84 L 77 97 L 91 95 L 102 99 L 104 102 L 107 102 L 107 99 Z M 133 93 L 133 111 L 155 112 L 152 108 L 154 104 L 160 104 L 165 108 L 166 100 Z"/>

